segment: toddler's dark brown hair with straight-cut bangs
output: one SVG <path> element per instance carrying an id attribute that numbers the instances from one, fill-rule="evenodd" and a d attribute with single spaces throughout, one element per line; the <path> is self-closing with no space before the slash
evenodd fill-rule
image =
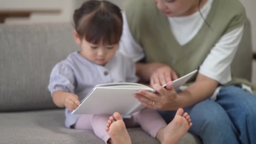
<path id="1" fill-rule="evenodd" d="M 89 0 L 73 14 L 74 27 L 80 39 L 89 43 L 119 43 L 123 31 L 120 8 L 108 1 Z"/>

